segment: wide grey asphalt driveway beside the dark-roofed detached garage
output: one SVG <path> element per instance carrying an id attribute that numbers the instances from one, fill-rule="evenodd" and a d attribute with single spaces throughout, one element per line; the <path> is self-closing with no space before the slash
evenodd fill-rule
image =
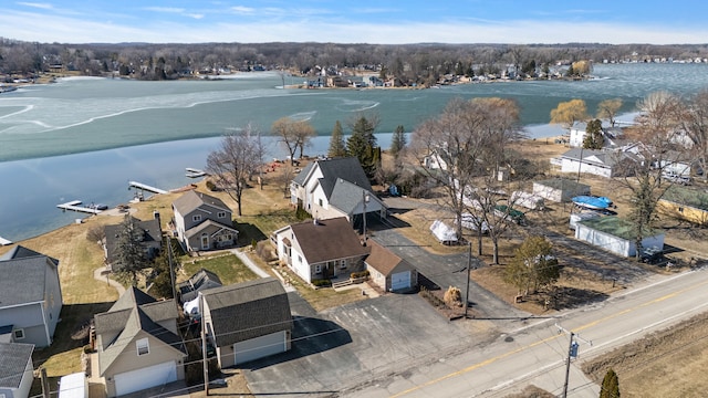
<path id="1" fill-rule="evenodd" d="M 316 315 L 294 293 L 290 298 L 292 349 L 243 368 L 254 396 L 334 396 L 385 385 L 392 375 L 409 377 L 412 369 L 496 336 L 489 327 L 472 338 L 470 324 L 448 322 L 416 294 L 387 294 Z"/>

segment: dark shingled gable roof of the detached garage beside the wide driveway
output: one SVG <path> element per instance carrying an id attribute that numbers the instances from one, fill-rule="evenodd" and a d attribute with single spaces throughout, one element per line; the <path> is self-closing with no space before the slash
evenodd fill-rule
<path id="1" fill-rule="evenodd" d="M 288 294 L 274 277 L 210 289 L 201 294 L 209 308 L 219 347 L 292 331 Z"/>

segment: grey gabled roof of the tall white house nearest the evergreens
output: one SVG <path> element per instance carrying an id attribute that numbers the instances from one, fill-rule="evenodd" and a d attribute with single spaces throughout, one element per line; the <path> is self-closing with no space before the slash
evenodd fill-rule
<path id="1" fill-rule="evenodd" d="M 293 182 L 304 186 L 312 175 L 314 168 L 320 168 L 322 178 L 320 185 L 324 190 L 324 195 L 329 199 L 332 196 L 334 186 L 339 178 L 357 185 L 366 190 L 372 190 L 372 185 L 362 168 L 362 164 L 355 157 L 333 158 L 324 160 L 315 160 L 308 166 L 293 179 Z"/>

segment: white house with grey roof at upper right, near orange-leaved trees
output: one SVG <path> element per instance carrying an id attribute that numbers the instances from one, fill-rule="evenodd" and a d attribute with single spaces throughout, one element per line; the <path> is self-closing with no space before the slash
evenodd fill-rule
<path id="1" fill-rule="evenodd" d="M 642 161 L 626 151 L 574 148 L 561 155 L 561 172 L 586 172 L 612 178 L 628 172 L 628 165 Z"/>

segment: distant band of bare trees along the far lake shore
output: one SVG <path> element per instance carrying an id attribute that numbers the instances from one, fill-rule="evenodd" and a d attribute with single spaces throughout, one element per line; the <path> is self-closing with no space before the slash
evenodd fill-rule
<path id="1" fill-rule="evenodd" d="M 287 70 L 303 75 L 327 67 L 378 72 L 400 85 L 429 83 L 446 74 L 483 75 L 511 69 L 532 76 L 558 63 L 577 69 L 585 60 L 602 62 L 654 59 L 695 60 L 708 45 L 676 44 L 339 44 L 199 43 L 62 44 L 0 38 L 0 73 L 31 75 L 74 71 L 85 75 L 124 75 L 171 80 L 204 71 Z M 584 64 L 581 64 L 584 65 Z"/>

